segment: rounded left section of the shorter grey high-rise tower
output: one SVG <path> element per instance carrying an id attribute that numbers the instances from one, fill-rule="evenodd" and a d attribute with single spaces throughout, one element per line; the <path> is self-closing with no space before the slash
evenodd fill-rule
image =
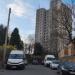
<path id="1" fill-rule="evenodd" d="M 38 9 L 36 15 L 35 41 L 43 45 L 46 26 L 46 10 L 44 8 Z"/>

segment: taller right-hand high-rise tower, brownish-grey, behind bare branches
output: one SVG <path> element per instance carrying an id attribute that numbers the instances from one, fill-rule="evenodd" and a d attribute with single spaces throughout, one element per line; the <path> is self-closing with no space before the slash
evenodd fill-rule
<path id="1" fill-rule="evenodd" d="M 67 25 L 72 25 L 71 9 L 61 0 L 52 0 L 50 7 L 50 52 L 57 55 L 69 43 Z"/>

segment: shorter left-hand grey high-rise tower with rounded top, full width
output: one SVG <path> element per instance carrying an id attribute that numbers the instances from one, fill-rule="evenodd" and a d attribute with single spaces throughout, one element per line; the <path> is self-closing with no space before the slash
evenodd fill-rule
<path id="1" fill-rule="evenodd" d="M 40 43 L 44 50 L 50 50 L 49 48 L 49 10 L 40 8 L 36 13 L 36 32 L 35 42 Z"/>

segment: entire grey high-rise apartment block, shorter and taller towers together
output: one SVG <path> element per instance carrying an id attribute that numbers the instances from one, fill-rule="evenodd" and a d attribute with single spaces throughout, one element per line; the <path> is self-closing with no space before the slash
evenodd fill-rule
<path id="1" fill-rule="evenodd" d="M 66 16 L 69 16 L 67 20 L 71 25 L 71 10 L 61 0 L 51 0 L 49 10 L 37 10 L 35 42 L 39 42 L 46 52 L 56 55 L 67 45 Z"/>

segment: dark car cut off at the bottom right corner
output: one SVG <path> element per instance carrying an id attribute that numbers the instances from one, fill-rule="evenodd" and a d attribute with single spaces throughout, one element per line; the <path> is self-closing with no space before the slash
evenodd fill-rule
<path id="1" fill-rule="evenodd" d="M 58 66 L 59 75 L 75 75 L 75 63 L 63 62 Z"/>

